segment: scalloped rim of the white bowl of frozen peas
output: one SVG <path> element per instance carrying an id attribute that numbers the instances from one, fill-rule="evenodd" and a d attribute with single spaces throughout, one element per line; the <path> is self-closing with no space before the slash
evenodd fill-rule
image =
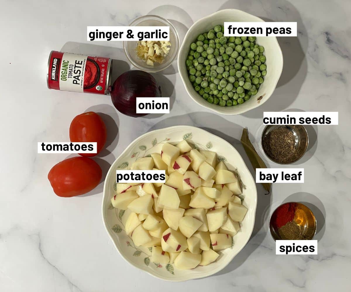
<path id="1" fill-rule="evenodd" d="M 182 42 L 182 44 L 181 44 L 181 46 L 180 46 L 180 48 L 179 48 L 179 52 L 180 52 L 180 51 L 183 49 L 183 47 L 185 46 L 185 40 L 186 40 L 186 38 L 188 37 L 188 34 L 189 34 L 189 32 L 190 32 L 190 30 L 191 30 L 191 28 L 192 28 L 193 26 L 197 25 L 197 24 L 198 24 L 199 22 L 201 22 L 201 21 L 204 21 L 204 20 L 206 20 L 206 19 L 208 19 L 208 18 L 213 17 L 213 16 L 216 15 L 216 14 L 223 13 L 224 11 L 228 11 L 228 12 L 233 12 L 233 11 L 239 12 L 239 13 L 242 13 L 242 14 L 245 14 L 245 15 L 249 15 L 249 16 L 252 16 L 252 17 L 256 18 L 256 19 L 257 19 L 257 22 L 265 22 L 263 19 L 259 18 L 258 16 L 253 15 L 253 14 L 250 14 L 250 13 L 247 13 L 247 12 L 242 11 L 242 10 L 239 10 L 239 9 L 231 9 L 231 8 L 229 8 L 229 9 L 222 9 L 222 10 L 216 11 L 216 12 L 214 12 L 214 13 L 212 13 L 212 14 L 209 14 L 209 15 L 204 16 L 203 18 L 200 18 L 199 20 L 197 20 L 196 22 L 194 22 L 194 23 L 192 24 L 192 26 L 188 29 L 188 31 L 186 32 L 186 34 L 185 34 L 185 36 L 184 36 L 183 42 Z M 278 57 L 278 58 L 280 59 L 280 61 L 281 61 L 281 63 L 282 63 L 282 66 L 281 66 L 281 69 L 280 69 L 280 73 L 279 73 L 279 77 L 277 78 L 276 82 L 275 82 L 274 85 L 272 86 L 272 94 L 273 94 L 273 93 L 274 93 L 274 90 L 275 90 L 276 87 L 277 87 L 277 84 L 278 84 L 278 81 L 279 81 L 279 79 L 280 79 L 280 76 L 282 75 L 282 72 L 283 72 L 284 60 L 283 60 L 282 49 L 281 49 L 280 46 L 279 46 L 279 43 L 278 43 L 277 38 L 276 38 L 275 36 L 270 36 L 269 38 L 274 38 L 275 44 L 277 45 L 278 50 L 279 50 L 279 53 L 280 53 L 280 54 L 279 54 L 279 57 L 280 57 L 280 58 L 279 58 L 279 57 Z M 277 58 L 277 59 L 278 59 L 278 58 Z M 252 106 L 252 107 L 250 107 L 249 109 L 243 109 L 243 108 L 241 107 L 241 109 L 240 109 L 240 110 L 236 110 L 235 113 L 223 111 L 223 110 L 221 110 L 222 107 L 220 107 L 220 106 L 217 106 L 217 107 L 212 108 L 211 106 L 202 105 L 202 104 L 200 104 L 200 103 L 197 101 L 197 99 L 196 99 L 195 97 L 192 96 L 192 94 L 189 92 L 190 90 L 188 90 L 188 87 L 189 87 L 189 86 L 188 86 L 188 84 L 186 83 L 186 79 L 187 79 L 186 77 L 187 77 L 187 76 L 183 76 L 184 73 L 182 73 L 182 71 L 180 70 L 180 58 L 179 58 L 179 57 L 178 57 L 178 62 L 177 62 L 177 63 L 178 63 L 178 72 L 179 72 L 181 81 L 183 82 L 184 87 L 185 87 L 185 90 L 186 90 L 186 92 L 188 93 L 188 95 L 191 97 L 191 99 L 192 99 L 194 102 L 196 102 L 199 106 L 204 107 L 204 108 L 209 109 L 209 110 L 212 110 L 212 111 L 214 111 L 215 113 L 218 113 L 218 114 L 221 114 L 221 115 L 227 115 L 227 116 L 240 115 L 240 114 L 246 113 L 246 112 L 249 111 L 249 110 L 252 110 L 252 109 L 255 109 L 255 108 L 261 106 L 261 105 L 264 104 L 267 100 L 269 100 L 269 98 L 272 96 L 272 94 L 269 95 L 269 96 L 266 97 L 265 99 L 262 99 L 260 103 L 255 103 L 255 106 Z M 211 103 L 210 103 L 210 104 L 211 104 Z M 236 108 L 236 109 L 239 109 L 239 107 Z"/>

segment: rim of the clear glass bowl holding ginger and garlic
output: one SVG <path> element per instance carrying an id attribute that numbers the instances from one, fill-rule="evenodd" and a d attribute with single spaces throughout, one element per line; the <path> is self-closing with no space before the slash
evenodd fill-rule
<path id="1" fill-rule="evenodd" d="M 178 35 L 178 32 L 177 32 L 177 29 L 174 27 L 174 25 L 173 25 L 169 20 L 167 20 L 167 19 L 165 19 L 165 18 L 163 18 L 163 17 L 161 17 L 161 16 L 159 16 L 159 15 L 147 14 L 147 15 L 140 16 L 140 17 L 134 19 L 134 20 L 130 23 L 129 26 L 134 26 L 134 23 L 135 23 L 136 21 L 141 20 L 141 19 L 143 19 L 143 18 L 150 18 L 150 17 L 152 17 L 152 18 L 157 18 L 157 19 L 160 20 L 161 22 L 164 22 L 165 24 L 167 24 L 167 25 L 170 27 L 170 30 L 172 29 L 173 32 L 174 32 L 174 36 L 175 36 L 175 38 L 176 38 L 176 41 L 177 41 L 177 43 L 178 43 L 178 46 L 177 46 L 177 48 L 176 48 L 176 53 L 174 54 L 174 57 L 173 57 L 172 59 L 168 60 L 168 65 L 167 65 L 166 67 L 162 68 L 162 69 L 141 67 L 141 66 L 139 66 L 139 64 L 135 63 L 135 62 L 130 58 L 130 56 L 129 56 L 128 52 L 127 52 L 127 46 L 126 46 L 126 42 L 127 42 L 127 41 L 123 41 L 123 49 L 124 49 L 124 53 L 125 53 L 125 55 L 126 55 L 128 61 L 131 62 L 131 64 L 132 64 L 135 68 L 138 68 L 138 69 L 143 70 L 143 71 L 145 71 L 145 72 L 155 73 L 155 72 L 160 72 L 160 71 L 163 71 L 163 70 L 167 69 L 167 68 L 173 63 L 173 61 L 176 60 L 176 58 L 177 58 L 177 56 L 178 56 L 178 53 L 179 53 L 179 48 L 180 48 L 179 43 L 180 43 L 180 40 L 179 40 L 179 35 Z M 173 46 L 173 44 L 172 44 L 172 46 Z"/>

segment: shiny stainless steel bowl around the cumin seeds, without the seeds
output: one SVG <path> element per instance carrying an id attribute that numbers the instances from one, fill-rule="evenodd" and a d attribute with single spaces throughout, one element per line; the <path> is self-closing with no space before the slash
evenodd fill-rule
<path id="1" fill-rule="evenodd" d="M 296 152 L 293 155 L 287 156 L 285 158 L 274 157 L 269 151 L 266 149 L 266 145 L 264 143 L 265 139 L 269 139 L 269 133 L 277 128 L 284 127 L 291 131 L 294 136 L 294 144 L 296 148 Z M 307 146 L 308 146 L 308 135 L 305 127 L 303 125 L 267 125 L 261 136 L 261 145 L 266 156 L 271 159 L 273 162 L 278 164 L 291 164 L 298 161 L 302 156 L 304 156 Z"/>

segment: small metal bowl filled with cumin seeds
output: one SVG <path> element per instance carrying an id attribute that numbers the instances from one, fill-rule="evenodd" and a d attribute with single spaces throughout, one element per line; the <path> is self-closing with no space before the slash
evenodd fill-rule
<path id="1" fill-rule="evenodd" d="M 273 141 L 274 130 L 277 129 L 287 129 L 292 135 L 291 140 L 285 141 L 284 138 Z M 288 132 L 286 132 L 288 133 Z M 273 162 L 278 164 L 291 164 L 298 161 L 302 156 L 304 156 L 307 146 L 308 146 L 308 135 L 306 128 L 302 125 L 267 125 L 261 136 L 261 145 L 266 156 Z M 294 151 L 291 151 L 289 155 L 279 155 L 279 152 L 283 152 L 284 147 L 291 145 L 294 147 Z"/>

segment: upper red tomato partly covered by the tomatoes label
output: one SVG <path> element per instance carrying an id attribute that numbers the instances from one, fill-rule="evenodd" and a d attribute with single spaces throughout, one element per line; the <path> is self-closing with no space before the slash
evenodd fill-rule
<path id="1" fill-rule="evenodd" d="M 106 143 L 106 126 L 102 118 L 93 111 L 76 116 L 69 126 L 71 142 L 97 142 L 97 153 L 79 153 L 81 156 L 97 155 Z"/>

